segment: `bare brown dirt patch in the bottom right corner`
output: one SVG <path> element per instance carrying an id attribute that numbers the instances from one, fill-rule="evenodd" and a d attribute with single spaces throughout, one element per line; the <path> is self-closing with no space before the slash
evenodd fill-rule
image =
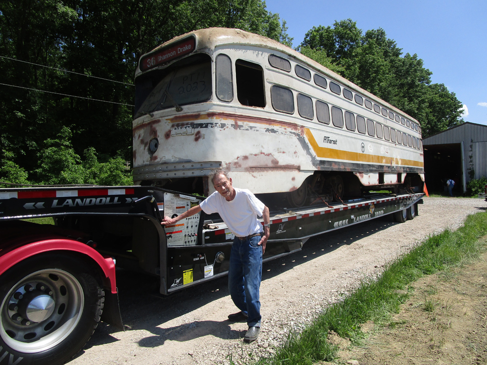
<path id="1" fill-rule="evenodd" d="M 470 265 L 411 283 L 410 297 L 389 325 L 364 326 L 370 337 L 360 347 L 330 333 L 331 342 L 341 348 L 337 363 L 487 364 L 486 260 L 487 254 Z"/>

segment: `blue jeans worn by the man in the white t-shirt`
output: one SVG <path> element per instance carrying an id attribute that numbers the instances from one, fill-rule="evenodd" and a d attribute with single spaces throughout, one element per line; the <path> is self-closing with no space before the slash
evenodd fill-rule
<path id="1" fill-rule="evenodd" d="M 262 278 L 261 236 L 233 240 L 228 269 L 228 290 L 233 303 L 247 317 L 248 327 L 261 327 L 259 288 Z"/>

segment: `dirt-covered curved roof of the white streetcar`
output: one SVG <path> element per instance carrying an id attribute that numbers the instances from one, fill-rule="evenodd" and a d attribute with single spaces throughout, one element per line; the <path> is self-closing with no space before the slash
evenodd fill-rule
<path id="1" fill-rule="evenodd" d="M 183 34 L 178 37 L 174 37 L 167 42 L 164 42 L 160 46 L 157 46 L 150 52 L 144 54 L 141 56 L 144 57 L 145 55 L 155 52 L 159 49 L 162 49 L 166 46 L 169 46 L 172 43 L 175 43 L 179 40 L 182 40 L 190 35 L 194 35 L 197 39 L 197 50 L 203 50 L 203 49 L 211 49 L 213 50 L 215 47 L 218 46 L 228 46 L 228 45 L 244 45 L 244 46 L 255 46 L 255 47 L 261 47 L 265 48 L 268 50 L 274 50 L 281 52 L 283 54 L 289 55 L 300 62 L 306 64 L 310 68 L 314 69 L 315 71 L 318 71 L 319 73 L 323 73 L 330 77 L 331 79 L 334 79 L 338 82 L 340 82 L 342 85 L 349 87 L 350 89 L 362 94 L 363 96 L 366 96 L 367 98 L 374 100 L 377 104 L 381 104 L 382 106 L 390 109 L 391 111 L 394 111 L 398 114 L 402 114 L 406 116 L 408 119 L 411 121 L 417 123 L 420 125 L 420 123 L 412 118 L 410 115 L 406 114 L 404 111 L 397 109 L 396 107 L 392 106 L 391 104 L 385 102 L 384 100 L 378 98 L 374 94 L 370 93 L 369 91 L 366 91 L 353 82 L 347 80 L 343 76 L 340 76 L 339 74 L 329 70 L 328 68 L 324 67 L 323 65 L 319 64 L 318 62 L 312 60 L 311 58 L 306 57 L 305 55 L 300 54 L 299 52 L 293 50 L 292 48 L 279 43 L 278 41 L 274 39 L 270 39 L 267 37 L 260 36 L 258 34 L 254 33 L 249 33 L 246 31 L 243 31 L 241 29 L 235 29 L 235 28 L 206 28 L 206 29 L 200 29 L 196 31 L 192 31 L 186 34 Z M 192 53 L 191 53 L 192 54 Z M 169 62 L 168 64 L 170 64 Z M 165 64 L 167 66 L 168 64 Z M 150 70 L 149 70 L 150 71 Z M 147 71 L 147 72 L 149 72 Z M 139 70 L 139 67 L 137 66 L 137 70 L 135 72 L 135 75 L 137 76 L 141 71 Z"/>

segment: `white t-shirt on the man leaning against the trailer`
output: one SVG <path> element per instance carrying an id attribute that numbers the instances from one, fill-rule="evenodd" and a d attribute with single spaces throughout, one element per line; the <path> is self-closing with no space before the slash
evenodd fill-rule
<path id="1" fill-rule="evenodd" d="M 262 217 L 265 205 L 247 189 L 235 189 L 235 198 L 226 201 L 218 191 L 200 203 L 206 214 L 219 213 L 230 231 L 237 237 L 262 232 Z"/>

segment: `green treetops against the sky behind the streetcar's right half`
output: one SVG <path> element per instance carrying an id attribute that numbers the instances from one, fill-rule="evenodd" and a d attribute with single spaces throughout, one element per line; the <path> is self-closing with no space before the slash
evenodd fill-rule
<path id="1" fill-rule="evenodd" d="M 381 28 L 363 34 L 352 19 L 320 25 L 306 33 L 298 50 L 417 119 L 423 138 L 463 122 L 455 93 L 431 84 L 423 60 L 402 56 Z"/>

